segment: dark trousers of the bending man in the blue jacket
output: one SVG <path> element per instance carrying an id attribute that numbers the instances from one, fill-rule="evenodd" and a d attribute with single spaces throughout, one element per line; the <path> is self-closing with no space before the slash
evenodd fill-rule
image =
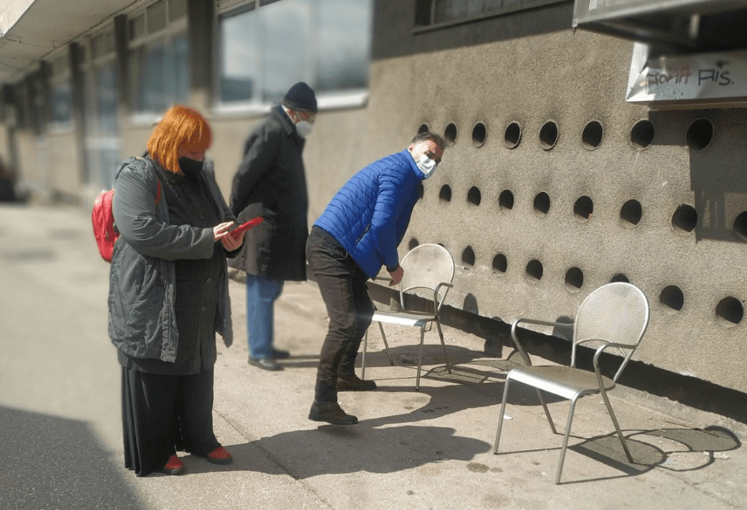
<path id="1" fill-rule="evenodd" d="M 314 399 L 337 402 L 337 375 L 354 373 L 361 340 L 373 317 L 373 303 L 366 287 L 368 276 L 347 250 L 319 227 L 311 228 L 306 240 L 306 260 L 329 314 Z"/>

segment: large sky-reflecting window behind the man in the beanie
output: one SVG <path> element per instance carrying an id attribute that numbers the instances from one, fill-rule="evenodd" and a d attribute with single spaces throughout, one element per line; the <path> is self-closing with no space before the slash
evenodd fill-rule
<path id="1" fill-rule="evenodd" d="M 220 13 L 218 102 L 267 107 L 298 81 L 320 108 L 362 102 L 372 12 L 372 0 L 282 0 Z"/>

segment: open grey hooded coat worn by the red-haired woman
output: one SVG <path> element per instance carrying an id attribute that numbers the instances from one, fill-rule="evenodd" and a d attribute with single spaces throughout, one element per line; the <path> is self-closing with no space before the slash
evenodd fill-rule
<path id="1" fill-rule="evenodd" d="M 115 184 L 112 211 L 120 237 L 109 273 L 109 337 L 126 355 L 173 363 L 179 349 L 176 328 L 174 261 L 213 256 L 212 228 L 170 225 L 158 175 L 149 160 L 130 158 Z M 211 164 L 202 171 L 223 221 L 235 220 L 220 193 Z M 233 341 L 226 261 L 220 282 L 215 331 L 226 346 Z"/>

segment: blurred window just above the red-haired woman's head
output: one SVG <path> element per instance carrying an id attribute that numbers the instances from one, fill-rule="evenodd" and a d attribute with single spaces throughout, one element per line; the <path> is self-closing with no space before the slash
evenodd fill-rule
<path id="1" fill-rule="evenodd" d="M 161 0 L 128 20 L 131 111 L 144 122 L 189 101 L 187 0 Z"/>

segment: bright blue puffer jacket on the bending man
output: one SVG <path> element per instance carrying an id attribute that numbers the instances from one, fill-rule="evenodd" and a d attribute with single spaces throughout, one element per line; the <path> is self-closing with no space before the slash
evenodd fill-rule
<path id="1" fill-rule="evenodd" d="M 407 150 L 374 161 L 347 181 L 314 225 L 332 234 L 370 278 L 382 265 L 395 270 L 423 178 Z"/>

